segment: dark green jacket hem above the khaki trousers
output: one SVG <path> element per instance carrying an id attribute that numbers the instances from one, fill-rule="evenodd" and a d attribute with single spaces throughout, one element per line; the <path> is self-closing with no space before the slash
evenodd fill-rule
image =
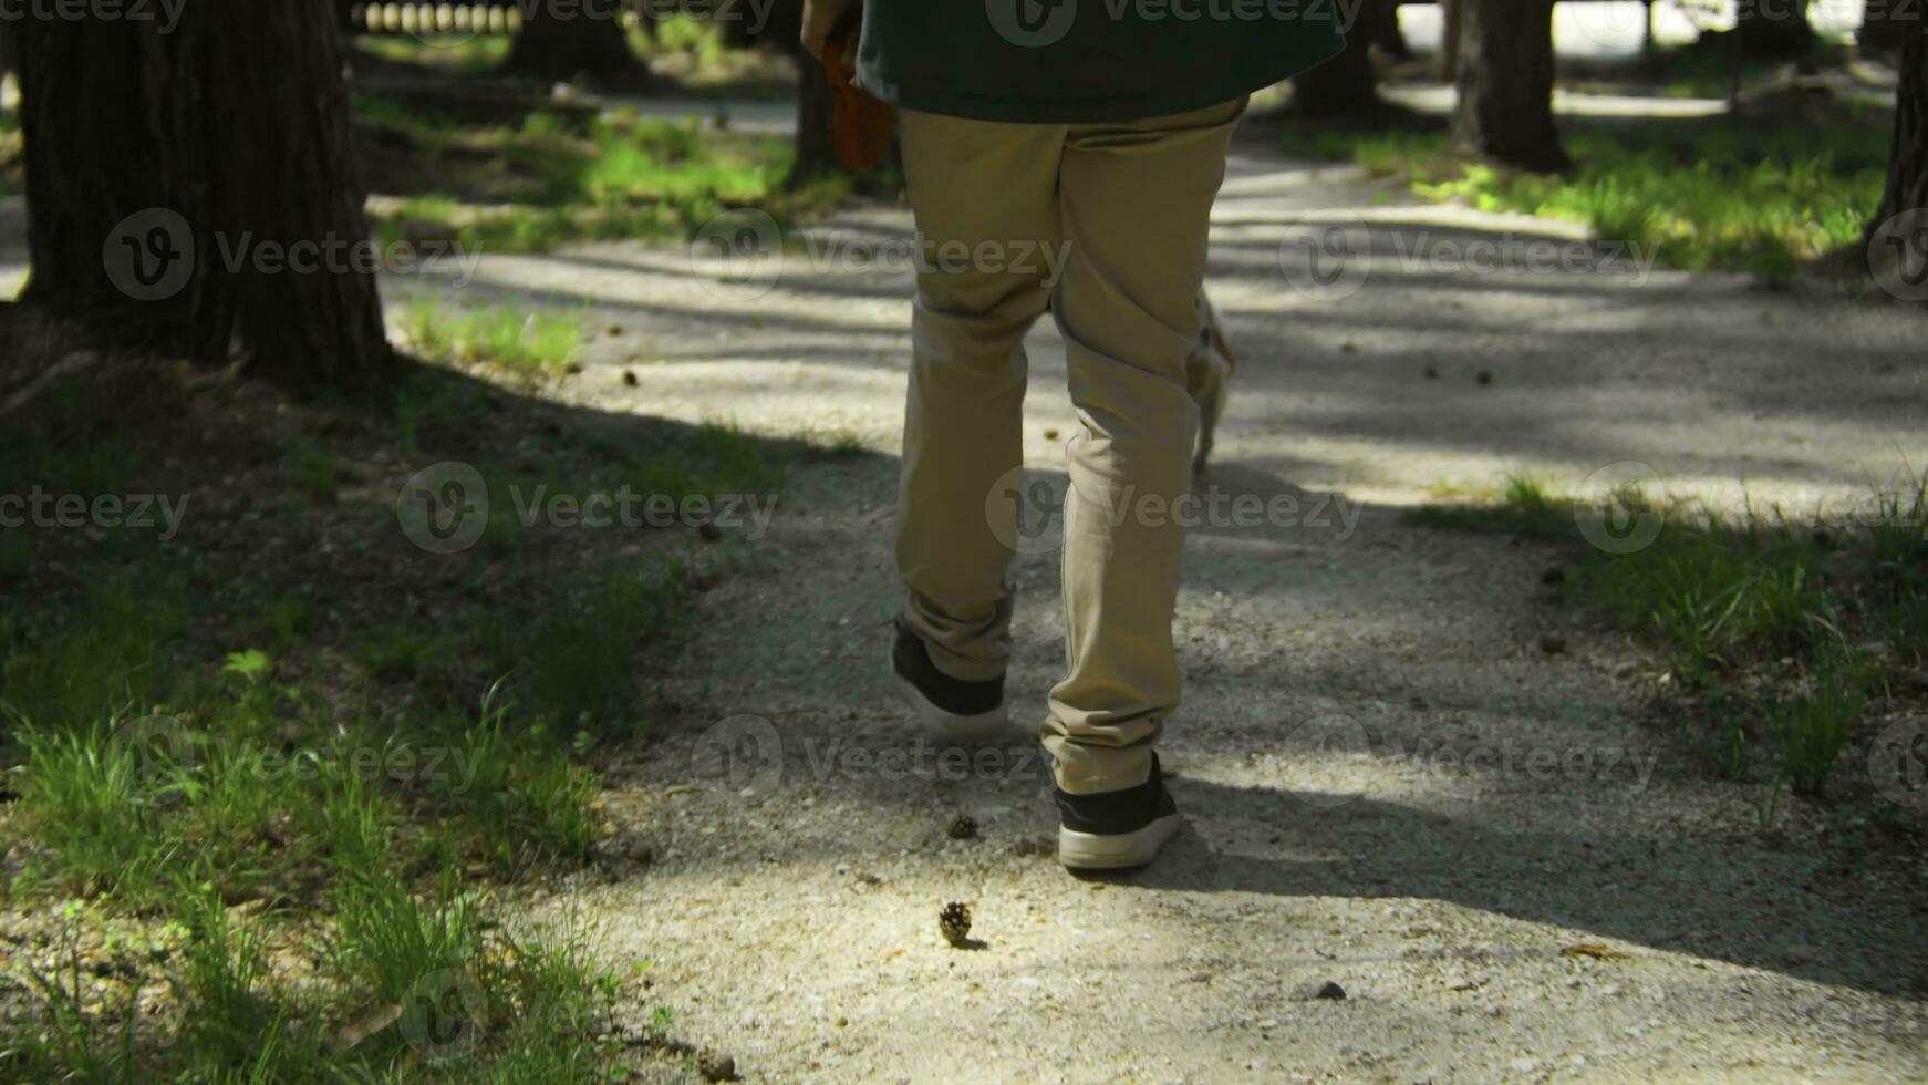
<path id="1" fill-rule="evenodd" d="M 866 0 L 858 85 L 987 121 L 1139 119 L 1230 102 L 1344 48 L 1346 0 Z"/>

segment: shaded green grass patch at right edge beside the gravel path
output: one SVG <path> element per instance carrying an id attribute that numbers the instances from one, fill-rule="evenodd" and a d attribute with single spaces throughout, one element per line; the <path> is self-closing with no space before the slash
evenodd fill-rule
<path id="1" fill-rule="evenodd" d="M 1797 794 L 1822 794 L 1886 688 L 1882 661 L 1861 646 L 1886 638 L 1899 659 L 1922 657 L 1920 484 L 1882 497 L 1861 524 L 1797 524 L 1754 509 L 1729 518 L 1621 490 L 1612 495 L 1620 511 L 1662 516 L 1652 542 L 1627 553 L 1589 545 L 1579 520 L 1604 513 L 1537 480 L 1510 478 L 1477 497 L 1406 518 L 1564 547 L 1564 599 L 1658 649 L 1685 738 L 1720 775 L 1760 769 Z"/>

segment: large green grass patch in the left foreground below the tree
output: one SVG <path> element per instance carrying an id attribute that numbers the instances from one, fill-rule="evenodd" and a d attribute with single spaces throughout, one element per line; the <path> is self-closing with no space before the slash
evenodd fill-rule
<path id="1" fill-rule="evenodd" d="M 571 437 L 532 424 L 497 451 L 497 403 L 474 378 L 424 370 L 397 397 L 395 439 L 434 449 L 405 459 L 486 464 L 492 486 L 536 476 L 573 493 L 771 493 L 792 457 L 675 424 Z M 83 428 L 56 430 L 10 445 L 31 445 L 13 464 L 85 463 L 62 457 L 87 445 Z M 301 437 L 281 468 L 264 478 L 287 493 L 339 490 L 335 457 Z M 362 522 L 347 495 L 283 509 Z M 233 576 L 214 553 L 100 540 L 46 578 L 19 547 L 25 580 L 0 611 L 6 888 L 21 908 L 67 900 L 75 944 L 116 923 L 152 948 L 110 977 L 98 954 L 17 958 L 44 973 L 21 967 L 31 996 L 0 1010 L 0 1079 L 584 1081 L 656 1050 L 605 1037 L 613 998 L 636 992 L 580 939 L 511 935 L 492 902 L 499 881 L 590 858 L 594 755 L 650 723 L 650 675 L 681 646 L 690 594 L 736 551 L 665 536 L 634 555 L 540 524 L 515 538 L 478 555 L 490 590 L 459 586 L 434 626 L 361 582 Z M 299 987 L 281 979 L 289 960 Z M 455 1014 L 442 1027 L 472 1033 L 459 1050 L 411 1046 L 436 1031 L 415 996 L 438 975 L 472 983 L 442 1004 Z M 121 996 L 162 981 L 158 1008 Z"/>

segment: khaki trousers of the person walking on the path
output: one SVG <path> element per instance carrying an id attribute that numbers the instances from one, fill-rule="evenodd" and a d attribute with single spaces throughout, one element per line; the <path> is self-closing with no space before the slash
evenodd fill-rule
<path id="1" fill-rule="evenodd" d="M 906 617 L 939 671 L 1004 673 L 1018 511 L 993 490 L 1024 461 L 1024 333 L 1049 303 L 1082 426 L 1064 501 L 1070 673 L 1051 690 L 1043 742 L 1074 794 L 1141 784 L 1178 707 L 1184 528 L 1168 511 L 1192 491 L 1199 412 L 1186 357 L 1207 220 L 1244 108 L 1089 125 L 900 110 L 927 256 L 898 503 Z M 1064 252 L 1055 281 L 1041 247 Z"/>

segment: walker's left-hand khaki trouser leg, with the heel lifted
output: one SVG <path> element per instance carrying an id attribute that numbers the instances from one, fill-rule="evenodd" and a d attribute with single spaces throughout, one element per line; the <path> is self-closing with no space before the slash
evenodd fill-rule
<path id="1" fill-rule="evenodd" d="M 1001 678 L 1014 538 L 985 507 L 1024 463 L 1024 333 L 1049 301 L 1062 125 L 900 110 L 904 179 L 927 266 L 912 316 L 897 569 L 906 622 L 952 678 Z M 960 258 L 962 256 L 962 258 Z M 1022 266 L 1014 266 L 1022 264 Z M 1003 528 L 1003 530 L 1001 530 Z"/>

